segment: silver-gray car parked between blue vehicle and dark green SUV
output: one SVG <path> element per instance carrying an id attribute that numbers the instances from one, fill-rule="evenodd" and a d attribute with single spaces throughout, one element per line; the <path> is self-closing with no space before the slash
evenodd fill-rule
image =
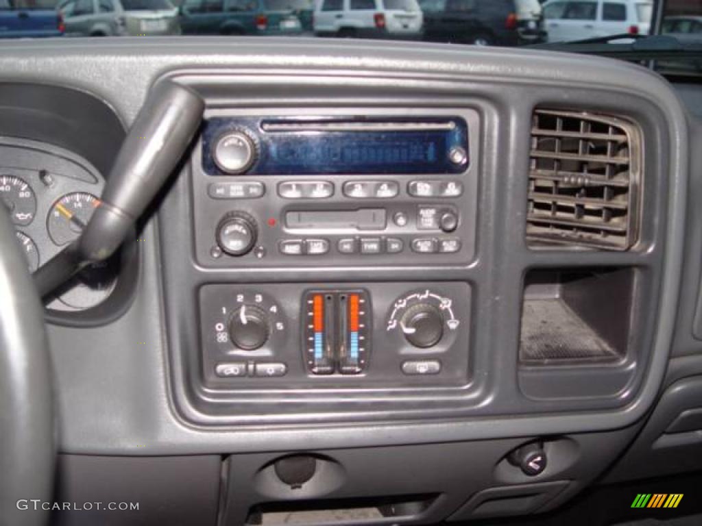
<path id="1" fill-rule="evenodd" d="M 67 36 L 180 34 L 168 0 L 65 0 L 58 8 Z"/>

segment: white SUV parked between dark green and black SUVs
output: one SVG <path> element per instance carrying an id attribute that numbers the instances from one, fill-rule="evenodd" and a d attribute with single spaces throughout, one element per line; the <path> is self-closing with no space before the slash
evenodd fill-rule
<path id="1" fill-rule="evenodd" d="M 424 15 L 416 0 L 319 0 L 314 34 L 366 38 L 421 38 Z"/>

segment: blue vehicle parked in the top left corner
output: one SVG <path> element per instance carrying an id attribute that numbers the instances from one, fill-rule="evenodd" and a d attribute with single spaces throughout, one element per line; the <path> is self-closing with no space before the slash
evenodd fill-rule
<path id="1" fill-rule="evenodd" d="M 0 0 L 0 37 L 61 36 L 64 25 L 55 0 Z"/>

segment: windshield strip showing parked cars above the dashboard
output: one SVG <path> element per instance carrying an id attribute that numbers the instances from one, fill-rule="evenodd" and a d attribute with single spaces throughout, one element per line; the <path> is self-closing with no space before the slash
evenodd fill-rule
<path id="1" fill-rule="evenodd" d="M 0 18 L 4 17 L 0 38 L 305 36 L 319 39 L 319 46 L 328 46 L 328 39 L 352 38 L 557 48 L 562 43 L 593 39 L 607 43 L 607 37 L 614 35 L 648 36 L 656 1 L 0 0 Z M 661 2 L 661 33 L 685 43 L 702 43 L 702 0 Z M 123 10 L 131 13 L 130 20 L 139 21 L 120 22 Z M 15 11 L 28 15 L 18 18 L 11 14 Z M 149 13 L 152 11 L 159 14 Z M 110 18 L 114 23 L 109 23 Z M 47 26 L 51 29 L 45 29 Z M 563 50 L 583 51 L 569 47 Z M 665 62 L 665 67 L 670 69 L 675 63 Z M 699 61 L 688 61 L 684 69 L 702 74 Z"/>

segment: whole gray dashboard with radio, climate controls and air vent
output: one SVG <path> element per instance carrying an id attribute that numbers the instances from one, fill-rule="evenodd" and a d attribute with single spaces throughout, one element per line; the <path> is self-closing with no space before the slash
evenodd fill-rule
<path id="1" fill-rule="evenodd" d="M 206 104 L 130 241 L 48 299 L 60 499 L 458 523 L 699 464 L 700 128 L 661 77 L 416 43 L 4 47 L 30 268 L 80 234 L 152 86 Z"/>

